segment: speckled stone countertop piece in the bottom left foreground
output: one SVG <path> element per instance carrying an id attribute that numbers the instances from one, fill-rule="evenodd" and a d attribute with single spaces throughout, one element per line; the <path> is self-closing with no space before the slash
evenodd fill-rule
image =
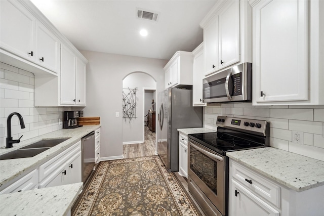
<path id="1" fill-rule="evenodd" d="M 0 214 L 66 215 L 83 188 L 83 183 L 0 195 Z"/>

